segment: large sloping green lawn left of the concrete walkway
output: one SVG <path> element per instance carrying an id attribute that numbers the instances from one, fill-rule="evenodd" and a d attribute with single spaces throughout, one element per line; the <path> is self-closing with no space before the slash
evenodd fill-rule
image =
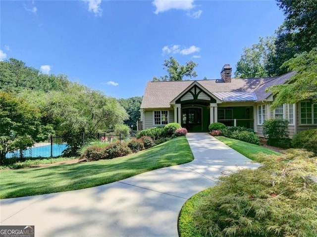
<path id="1" fill-rule="evenodd" d="M 79 190 L 112 183 L 194 159 L 186 137 L 161 143 L 136 154 L 42 168 L 0 171 L 0 198 Z"/>

